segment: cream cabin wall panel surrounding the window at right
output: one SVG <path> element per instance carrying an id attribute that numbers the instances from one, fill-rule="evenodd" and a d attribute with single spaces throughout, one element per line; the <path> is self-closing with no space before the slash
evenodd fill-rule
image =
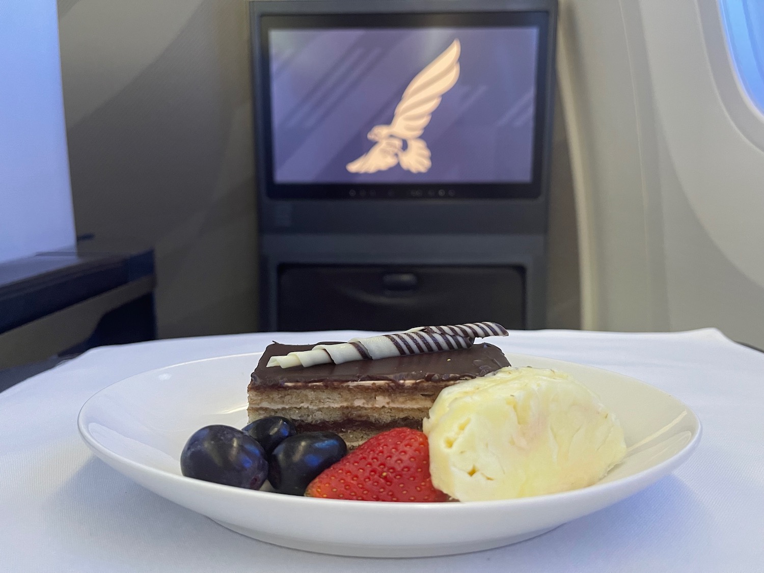
<path id="1" fill-rule="evenodd" d="M 714 0 L 561 2 L 585 328 L 764 347 L 764 116 Z"/>

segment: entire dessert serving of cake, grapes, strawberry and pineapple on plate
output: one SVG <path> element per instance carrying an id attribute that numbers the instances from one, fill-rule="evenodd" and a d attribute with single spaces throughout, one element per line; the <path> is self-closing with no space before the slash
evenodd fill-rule
<path id="1" fill-rule="evenodd" d="M 206 426 L 186 476 L 340 500 L 506 500 L 595 484 L 626 455 L 613 413 L 569 374 L 511 367 L 495 322 L 349 342 L 274 342 L 243 429 Z M 348 452 L 348 448 L 351 450 Z"/>

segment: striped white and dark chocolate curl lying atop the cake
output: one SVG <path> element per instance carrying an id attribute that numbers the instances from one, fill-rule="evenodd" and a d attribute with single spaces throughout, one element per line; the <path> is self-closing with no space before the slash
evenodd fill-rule
<path id="1" fill-rule="evenodd" d="M 496 322 L 470 322 L 455 326 L 419 326 L 397 334 L 353 338 L 336 345 L 316 345 L 311 350 L 271 356 L 267 366 L 291 368 L 316 364 L 342 364 L 355 360 L 393 358 L 406 354 L 470 348 L 475 338 L 507 336 Z"/>

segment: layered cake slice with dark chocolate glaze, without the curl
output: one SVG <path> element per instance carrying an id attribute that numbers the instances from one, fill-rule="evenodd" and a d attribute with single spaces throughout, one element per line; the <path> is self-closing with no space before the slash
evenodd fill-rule
<path id="1" fill-rule="evenodd" d="M 443 388 L 509 366 L 503 352 L 487 343 L 342 364 L 266 366 L 272 356 L 314 346 L 274 342 L 266 348 L 248 387 L 250 421 L 286 416 L 300 432 L 337 432 L 353 447 L 387 429 L 421 429 Z"/>

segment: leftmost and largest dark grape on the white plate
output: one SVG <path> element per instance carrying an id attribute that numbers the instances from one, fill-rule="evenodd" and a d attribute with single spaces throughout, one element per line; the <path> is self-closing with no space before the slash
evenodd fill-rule
<path id="1" fill-rule="evenodd" d="M 180 471 L 188 478 L 256 490 L 267 478 L 268 462 L 249 434 L 231 426 L 205 426 L 183 447 Z"/>

